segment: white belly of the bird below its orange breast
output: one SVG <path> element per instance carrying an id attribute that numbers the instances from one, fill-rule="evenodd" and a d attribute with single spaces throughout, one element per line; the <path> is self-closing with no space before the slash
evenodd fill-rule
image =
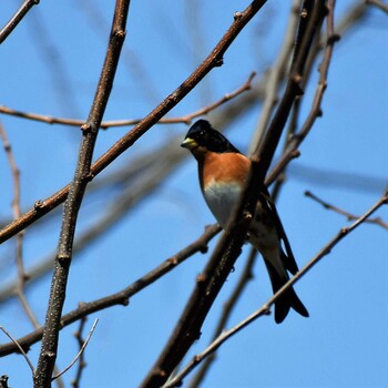
<path id="1" fill-rule="evenodd" d="M 232 215 L 241 192 L 242 187 L 237 183 L 221 184 L 211 182 L 204 190 L 207 206 L 223 228 L 225 228 Z"/>

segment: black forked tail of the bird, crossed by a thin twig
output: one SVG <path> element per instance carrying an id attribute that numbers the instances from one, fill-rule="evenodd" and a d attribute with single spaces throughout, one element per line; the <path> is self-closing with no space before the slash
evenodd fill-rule
<path id="1" fill-rule="evenodd" d="M 272 288 L 274 294 L 277 293 L 289 279 L 287 272 L 279 274 L 274 266 L 268 262 L 264 261 L 267 267 Z M 308 317 L 308 312 L 304 304 L 296 295 L 293 287 L 289 287 L 276 302 L 275 302 L 275 321 L 280 324 L 287 316 L 290 308 L 299 313 L 304 317 Z"/>

